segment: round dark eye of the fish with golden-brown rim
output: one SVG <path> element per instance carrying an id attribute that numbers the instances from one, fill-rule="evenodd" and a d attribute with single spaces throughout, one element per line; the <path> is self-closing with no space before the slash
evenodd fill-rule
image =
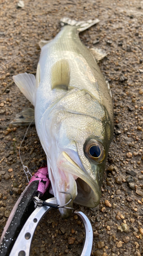
<path id="1" fill-rule="evenodd" d="M 91 139 L 84 145 L 84 153 L 86 157 L 91 158 L 96 162 L 102 162 L 105 158 L 103 145 L 94 139 Z"/>

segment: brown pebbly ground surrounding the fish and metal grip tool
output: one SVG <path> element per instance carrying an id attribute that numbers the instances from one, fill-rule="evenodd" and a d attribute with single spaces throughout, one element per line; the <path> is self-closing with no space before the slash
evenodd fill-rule
<path id="1" fill-rule="evenodd" d="M 17 8 L 17 3 L 15 0 L 0 3 L 1 234 L 27 185 L 18 153 L 26 127 L 13 129 L 9 123 L 16 113 L 32 105 L 12 83 L 12 76 L 24 72 L 35 74 L 40 54 L 38 42 L 52 39 L 60 31 L 61 17 L 79 20 L 98 17 L 101 22 L 80 33 L 80 38 L 87 47 L 108 52 L 99 66 L 110 82 L 115 134 L 99 206 L 74 207 L 83 210 L 91 220 L 92 255 L 143 255 L 143 2 L 25 0 L 23 8 Z M 28 130 L 21 157 L 32 173 L 45 165 L 45 153 L 35 126 Z M 38 226 L 31 256 L 80 255 L 83 237 L 83 225 L 75 215 L 63 220 L 58 210 L 53 209 Z"/>

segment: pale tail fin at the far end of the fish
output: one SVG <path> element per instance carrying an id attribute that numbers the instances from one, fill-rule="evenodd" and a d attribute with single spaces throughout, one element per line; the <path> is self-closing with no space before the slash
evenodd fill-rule
<path id="1" fill-rule="evenodd" d="M 77 27 L 77 30 L 79 32 L 84 31 L 90 27 L 92 27 L 93 25 L 95 25 L 96 23 L 100 22 L 100 20 L 98 18 L 92 20 L 88 20 L 87 22 L 81 21 L 78 22 L 75 19 L 70 19 L 67 17 L 64 17 L 61 19 L 61 26 L 65 26 L 65 25 L 70 25 L 70 26 L 74 26 Z"/>

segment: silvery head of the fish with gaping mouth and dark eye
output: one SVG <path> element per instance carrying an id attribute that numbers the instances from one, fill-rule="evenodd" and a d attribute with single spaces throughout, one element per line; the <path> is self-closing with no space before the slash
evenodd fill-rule
<path id="1" fill-rule="evenodd" d="M 54 164 L 51 164 L 55 166 L 56 172 L 52 169 L 50 179 L 53 194 L 60 205 L 67 203 L 70 198 L 72 201 L 69 207 L 72 207 L 73 202 L 87 207 L 95 207 L 100 202 L 105 162 L 111 141 L 110 121 L 106 115 L 103 117 L 98 120 L 63 111 L 54 119 L 56 126 L 52 132 L 57 137 L 56 145 L 52 144 L 54 154 L 58 154 Z M 63 217 L 71 214 L 71 210 L 64 208 L 60 212 Z"/>

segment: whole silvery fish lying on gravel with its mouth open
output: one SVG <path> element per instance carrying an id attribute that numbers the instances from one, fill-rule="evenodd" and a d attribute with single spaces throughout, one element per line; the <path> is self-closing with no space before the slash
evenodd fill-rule
<path id="1" fill-rule="evenodd" d="M 96 207 L 113 137 L 113 106 L 108 82 L 98 61 L 100 50 L 88 49 L 79 32 L 99 19 L 61 19 L 61 31 L 40 42 L 36 77 L 13 76 L 16 86 L 34 105 L 36 130 L 47 157 L 50 193 L 59 205 Z M 61 193 L 62 192 L 62 193 Z M 64 192 L 64 193 L 63 193 Z M 70 209 L 60 208 L 67 218 Z"/>

